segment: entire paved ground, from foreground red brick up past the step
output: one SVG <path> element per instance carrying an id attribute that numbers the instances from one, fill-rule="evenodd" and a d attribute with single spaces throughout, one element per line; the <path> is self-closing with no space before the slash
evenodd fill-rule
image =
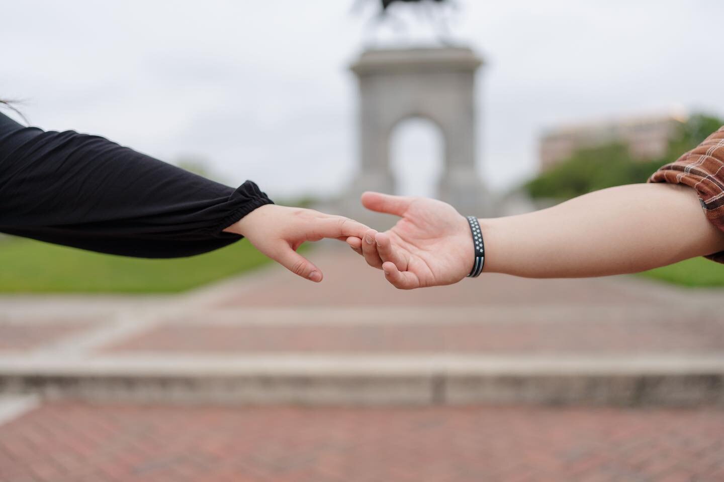
<path id="1" fill-rule="evenodd" d="M 272 268 L 180 297 L 0 298 L 0 391 L 105 400 L 0 399 L 0 482 L 724 481 L 724 410 L 702 405 L 721 395 L 723 291 L 403 292 L 353 254 L 311 257 L 322 285 Z M 516 405 L 590 393 L 696 408 Z"/>

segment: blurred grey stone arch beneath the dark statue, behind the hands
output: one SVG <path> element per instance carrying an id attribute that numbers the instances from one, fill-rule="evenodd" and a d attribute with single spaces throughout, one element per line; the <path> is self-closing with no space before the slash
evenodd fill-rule
<path id="1" fill-rule="evenodd" d="M 353 215 L 361 209 L 363 191 L 395 192 L 390 137 L 397 124 L 413 117 L 432 121 L 444 139 L 437 197 L 463 214 L 486 211 L 476 173 L 475 73 L 480 65 L 470 48 L 461 47 L 369 50 L 355 61 L 359 171 L 348 198 Z"/>

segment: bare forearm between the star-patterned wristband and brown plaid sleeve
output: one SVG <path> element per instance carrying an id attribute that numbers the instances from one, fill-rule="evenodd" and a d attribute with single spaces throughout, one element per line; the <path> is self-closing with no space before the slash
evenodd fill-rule
<path id="1" fill-rule="evenodd" d="M 618 186 L 480 223 L 484 271 L 524 277 L 640 272 L 724 250 L 696 191 L 671 184 Z"/>

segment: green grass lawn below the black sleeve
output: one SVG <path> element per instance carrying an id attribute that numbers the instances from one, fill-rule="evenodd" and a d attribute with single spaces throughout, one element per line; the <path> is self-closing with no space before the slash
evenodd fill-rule
<path id="1" fill-rule="evenodd" d="M 0 293 L 176 293 L 266 264 L 245 239 L 190 258 L 136 259 L 0 240 Z"/>

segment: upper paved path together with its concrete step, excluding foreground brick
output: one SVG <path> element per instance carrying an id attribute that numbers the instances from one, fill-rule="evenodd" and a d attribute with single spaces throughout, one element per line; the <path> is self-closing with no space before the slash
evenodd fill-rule
<path id="1" fill-rule="evenodd" d="M 196 403 L 724 405 L 723 291 L 486 275 L 406 292 L 351 252 L 310 256 L 321 285 L 274 267 L 178 297 L 0 298 L 0 390 Z"/>

